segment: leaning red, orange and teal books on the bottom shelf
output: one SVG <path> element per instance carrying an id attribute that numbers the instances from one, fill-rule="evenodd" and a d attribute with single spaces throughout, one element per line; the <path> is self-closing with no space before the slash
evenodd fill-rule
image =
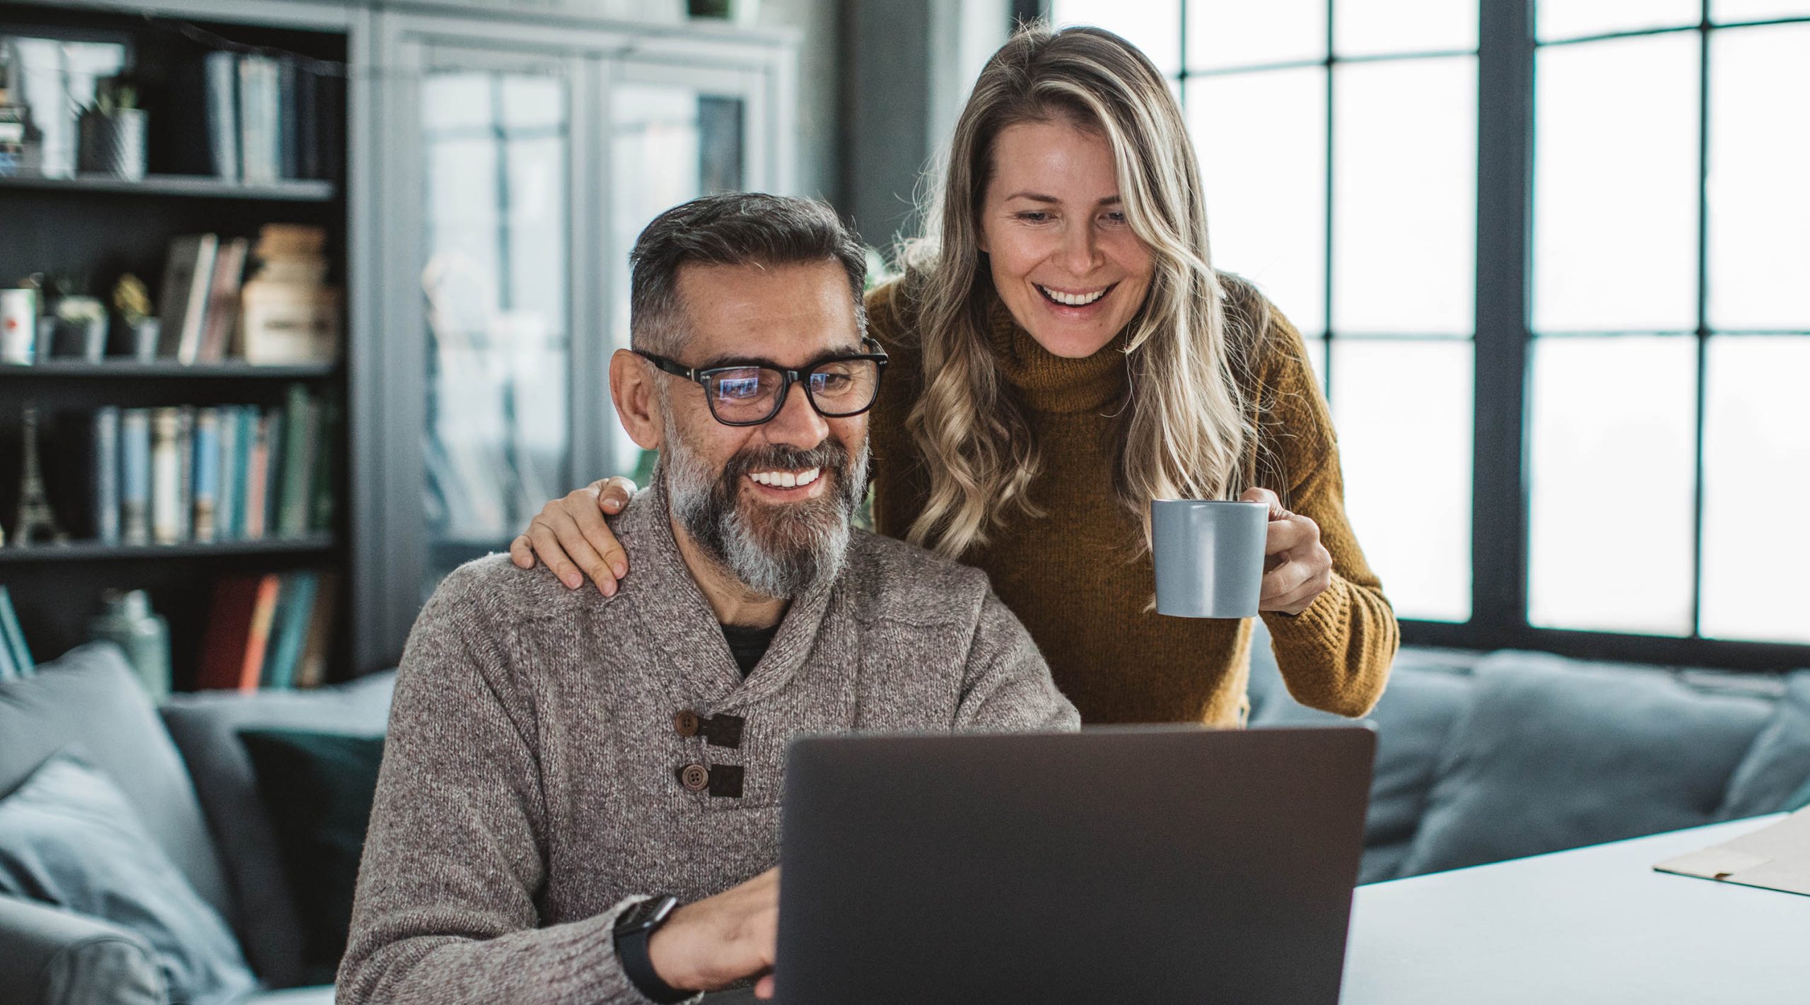
<path id="1" fill-rule="evenodd" d="M 226 576 L 201 637 L 195 688 L 255 692 L 313 688 L 326 679 L 338 576 L 264 572 Z"/>

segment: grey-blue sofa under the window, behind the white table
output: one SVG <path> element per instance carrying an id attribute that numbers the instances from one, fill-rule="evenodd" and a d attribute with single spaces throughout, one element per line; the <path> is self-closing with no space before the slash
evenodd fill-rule
<path id="1" fill-rule="evenodd" d="M 1339 721 L 1289 695 L 1258 623 L 1251 724 Z M 1810 670 L 1405 648 L 1370 721 L 1367 884 L 1810 802 Z"/>

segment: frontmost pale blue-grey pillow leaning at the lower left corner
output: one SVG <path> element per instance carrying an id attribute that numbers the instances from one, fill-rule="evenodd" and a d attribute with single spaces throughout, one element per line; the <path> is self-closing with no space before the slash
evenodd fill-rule
<path id="1" fill-rule="evenodd" d="M 257 987 L 219 911 L 157 851 L 107 775 L 67 751 L 0 800 L 0 893 L 143 936 L 172 1001 L 228 1005 Z"/>

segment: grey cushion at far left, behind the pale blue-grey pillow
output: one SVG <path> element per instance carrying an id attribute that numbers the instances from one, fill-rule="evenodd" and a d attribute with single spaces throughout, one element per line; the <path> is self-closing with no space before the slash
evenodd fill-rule
<path id="1" fill-rule="evenodd" d="M 0 684 L 0 795 L 58 750 L 80 746 L 127 793 L 152 842 L 195 893 L 232 916 L 195 788 L 119 646 L 89 643 L 40 663 L 36 677 Z"/>

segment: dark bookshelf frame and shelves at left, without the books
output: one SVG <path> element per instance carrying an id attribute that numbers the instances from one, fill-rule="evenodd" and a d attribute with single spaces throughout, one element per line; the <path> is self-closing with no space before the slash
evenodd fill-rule
<path id="1" fill-rule="evenodd" d="M 295 54 L 320 65 L 344 63 L 351 49 L 348 27 L 310 20 L 297 5 L 295 24 L 284 22 L 275 5 L 230 4 L 197 7 L 183 16 L 192 31 L 177 31 L 174 20 L 147 16 L 150 7 L 138 2 L 100 5 L 90 2 L 0 0 L 0 33 L 47 38 L 121 42 L 129 47 L 127 72 L 139 85 L 141 105 L 148 110 L 148 163 L 141 179 L 43 177 L 31 174 L 0 176 L 0 284 L 14 284 L 33 273 L 72 277 L 85 292 L 110 306 L 114 282 L 121 273 L 138 275 L 159 297 L 170 241 L 190 234 L 217 234 L 257 239 L 272 223 L 319 226 L 326 232 L 329 259 L 328 284 L 346 292 L 349 301 L 348 230 L 349 201 L 344 138 L 349 134 L 344 101 L 315 105 L 329 109 L 338 141 L 322 143 L 331 156 L 324 163 L 293 170 L 315 177 L 268 183 L 243 183 L 230 177 L 194 174 L 205 170 L 194 161 L 190 138 L 203 132 L 206 109 L 188 103 L 181 83 L 188 71 L 215 47 L 230 40 L 230 51 Z M 237 20 L 235 20 L 237 18 Z M 326 129 L 320 136 L 326 136 Z M 317 170 L 320 168 L 320 170 Z M 161 308 L 161 301 L 157 304 Z M 118 351 L 118 331 L 114 351 Z M 351 331 L 342 333 L 342 359 L 349 357 Z M 89 637 L 87 623 L 100 612 L 101 592 L 143 589 L 152 608 L 170 625 L 170 666 L 177 690 L 192 688 L 199 663 L 215 585 L 226 576 L 319 570 L 342 583 L 337 592 L 333 645 L 328 654 L 328 679 L 351 675 L 351 496 L 348 487 L 353 442 L 349 407 L 349 368 L 344 362 L 308 366 L 253 366 L 243 360 L 179 364 L 176 360 L 138 362 L 109 357 L 49 359 L 31 366 L 0 366 L 0 527 L 7 541 L 0 547 L 0 583 L 18 608 L 25 637 L 40 661 L 49 661 Z M 42 433 L 40 455 L 47 480 L 58 465 L 80 467 L 80 435 L 60 440 L 65 416 L 80 429 L 80 416 L 101 406 L 257 406 L 277 407 L 291 384 L 304 384 L 317 398 L 338 402 L 338 427 L 319 449 L 333 453 L 333 520 L 329 529 L 302 536 L 266 536 L 259 540 L 183 541 L 174 545 L 121 545 L 98 540 L 72 540 L 65 545 L 14 545 L 20 498 L 22 411 L 36 407 Z M 52 505 L 65 531 L 92 534 L 90 514 L 80 500 L 58 494 Z M 310 523 L 310 527 L 317 527 Z"/>

